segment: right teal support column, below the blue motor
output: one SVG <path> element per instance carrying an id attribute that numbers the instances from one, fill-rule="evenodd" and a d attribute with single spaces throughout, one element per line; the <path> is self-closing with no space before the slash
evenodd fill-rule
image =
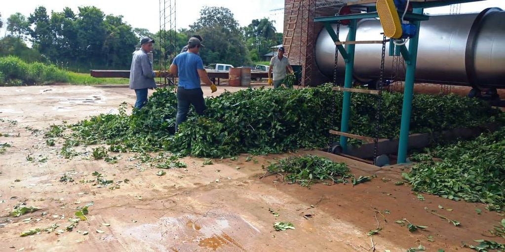
<path id="1" fill-rule="evenodd" d="M 423 9 L 414 9 L 414 13 L 422 14 Z M 416 76 L 417 48 L 419 44 L 420 21 L 413 21 L 411 24 L 417 27 L 416 36 L 410 38 L 409 56 L 405 75 L 405 88 L 403 91 L 403 106 L 401 108 L 400 139 L 398 145 L 398 164 L 407 162 L 407 150 L 409 148 L 409 130 L 412 112 L 412 98 L 414 96 L 414 80 Z"/>

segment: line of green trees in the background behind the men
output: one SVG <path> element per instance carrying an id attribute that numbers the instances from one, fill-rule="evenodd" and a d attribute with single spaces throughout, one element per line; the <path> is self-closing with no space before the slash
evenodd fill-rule
<path id="1" fill-rule="evenodd" d="M 204 38 L 206 47 L 200 55 L 205 64 L 250 65 L 261 60 L 270 46 L 282 42 L 282 33 L 276 32 L 274 21 L 256 19 L 240 27 L 233 13 L 223 7 L 204 7 L 189 29 L 172 31 L 176 47 L 167 50 L 160 48 L 163 31 L 151 33 L 134 28 L 123 16 L 106 15 L 93 6 L 79 7 L 77 13 L 68 7 L 48 13 L 39 6 L 29 16 L 15 13 L 7 22 L 1 17 L 0 14 L 0 28 L 6 25 L 8 35 L 0 40 L 0 56 L 16 55 L 28 62 L 47 62 L 79 72 L 128 69 L 131 54 L 143 36 L 157 41 L 153 51 L 155 65 L 160 56 L 175 56 L 193 34 Z M 26 42 L 31 43 L 31 48 Z"/>

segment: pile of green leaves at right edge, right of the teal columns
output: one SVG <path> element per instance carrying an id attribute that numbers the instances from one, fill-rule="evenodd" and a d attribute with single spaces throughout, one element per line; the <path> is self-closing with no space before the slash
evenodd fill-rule
<path id="1" fill-rule="evenodd" d="M 413 190 L 484 203 L 489 210 L 505 206 L 505 127 L 472 141 L 438 146 L 413 160 L 419 163 L 404 174 Z"/>

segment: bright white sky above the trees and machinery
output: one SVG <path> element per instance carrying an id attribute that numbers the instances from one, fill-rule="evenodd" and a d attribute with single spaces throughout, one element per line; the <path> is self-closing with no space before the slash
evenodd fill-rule
<path id="1" fill-rule="evenodd" d="M 5 0 L 4 0 L 5 1 Z M 170 2 L 170 1 L 169 1 Z M 173 2 L 173 0 L 172 0 Z M 253 19 L 269 18 L 275 21 L 277 32 L 283 30 L 284 0 L 191 0 L 176 2 L 176 27 L 189 28 L 199 17 L 199 11 L 204 6 L 226 7 L 234 14 L 240 26 L 247 26 Z M 0 13 L 4 21 L 4 28 L 0 30 L 0 36 L 5 35 L 7 18 L 16 12 L 25 16 L 30 15 L 37 6 L 44 6 L 50 15 L 51 11 L 60 12 L 64 7 L 70 7 L 77 12 L 79 6 L 95 6 L 106 15 L 113 14 L 124 16 L 124 21 L 135 28 L 146 28 L 156 32 L 160 28 L 159 0 L 142 1 L 114 1 L 114 0 L 17 0 L 3 3 Z M 136 3 L 136 4 L 132 4 Z M 461 13 L 480 12 L 488 7 L 499 7 L 505 10 L 504 0 L 486 0 L 476 3 L 461 5 Z M 440 7 L 425 10 L 429 14 L 444 14 L 450 12 L 450 7 Z"/>

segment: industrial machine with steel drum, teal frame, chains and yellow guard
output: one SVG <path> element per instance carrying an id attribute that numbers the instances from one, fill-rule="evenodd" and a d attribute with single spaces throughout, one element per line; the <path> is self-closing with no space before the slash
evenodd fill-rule
<path id="1" fill-rule="evenodd" d="M 316 63 L 334 79 L 333 90 L 343 92 L 339 141 L 330 143 L 330 152 L 348 153 L 347 139 L 374 142 L 373 162 L 384 163 L 378 155 L 378 130 L 382 88 L 392 69 L 388 56 L 401 55 L 405 78 L 397 163 L 407 162 L 414 83 L 445 82 L 469 85 L 475 94 L 505 88 L 505 12 L 489 8 L 479 14 L 428 16 L 424 8 L 479 0 L 357 0 L 347 5 L 361 12 L 337 13 L 315 18 L 325 27 L 316 41 Z M 354 14 L 347 14 L 354 13 Z M 400 18 L 401 17 L 401 18 Z M 387 55 L 387 56 L 386 56 Z M 419 56 L 418 56 L 419 55 Z M 340 62 L 340 64 L 338 64 Z M 388 64 L 389 63 L 389 64 Z M 344 76 L 343 85 L 338 80 Z M 341 79 L 341 78 L 340 78 Z M 353 88 L 355 80 L 376 81 L 375 90 Z M 351 93 L 375 95 L 375 137 L 350 134 Z M 336 122 L 335 113 L 331 115 Z M 337 125 L 332 125 L 336 129 Z"/>

